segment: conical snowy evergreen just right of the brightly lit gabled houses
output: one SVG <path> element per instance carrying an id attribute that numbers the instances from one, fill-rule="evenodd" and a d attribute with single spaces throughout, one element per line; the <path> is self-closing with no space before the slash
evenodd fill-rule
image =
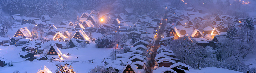
<path id="1" fill-rule="evenodd" d="M 236 34 L 237 34 L 236 25 L 235 25 L 234 23 L 233 23 L 233 24 L 230 24 L 230 25 L 228 26 L 226 39 L 234 40 Z"/>

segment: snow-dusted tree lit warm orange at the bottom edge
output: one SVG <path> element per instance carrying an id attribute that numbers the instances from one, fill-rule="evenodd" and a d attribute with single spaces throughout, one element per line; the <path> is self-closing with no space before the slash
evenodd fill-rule
<path id="1" fill-rule="evenodd" d="M 73 67 L 71 67 L 71 65 L 70 65 L 70 67 L 68 67 L 67 64 L 65 64 L 65 65 L 59 65 L 59 66 L 57 67 L 57 69 L 55 70 L 55 73 L 76 73 L 76 72 L 73 71 L 73 69 L 71 69 L 71 68 L 73 68 Z"/>

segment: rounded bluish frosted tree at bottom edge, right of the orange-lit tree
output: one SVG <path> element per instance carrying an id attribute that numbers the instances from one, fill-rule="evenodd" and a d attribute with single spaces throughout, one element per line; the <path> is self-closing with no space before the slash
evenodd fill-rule
<path id="1" fill-rule="evenodd" d="M 89 73 L 105 73 L 107 70 L 104 66 L 96 65 L 96 67 L 93 67 Z"/>

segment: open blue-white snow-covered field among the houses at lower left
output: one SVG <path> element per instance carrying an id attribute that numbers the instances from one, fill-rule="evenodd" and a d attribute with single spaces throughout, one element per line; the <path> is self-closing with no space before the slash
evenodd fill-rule
<path id="1" fill-rule="evenodd" d="M 72 62 L 71 66 L 77 73 L 87 73 L 92 67 L 96 65 L 101 65 L 101 61 L 104 58 L 109 58 L 109 53 L 112 48 L 96 48 L 95 44 L 91 43 L 87 48 L 69 48 L 60 49 L 63 54 L 71 54 L 68 59 L 61 61 L 65 62 L 50 62 L 49 60 L 34 60 L 33 62 L 24 61 L 24 58 L 20 58 L 18 53 L 22 49 L 18 46 L 0 46 L 0 54 L 2 58 L 6 59 L 6 62 L 12 61 L 14 66 L 0 67 L 0 73 L 10 73 L 14 70 L 18 70 L 21 73 L 27 71 L 28 73 L 35 73 L 41 66 L 46 65 L 46 67 L 52 72 L 57 68 L 56 64 L 65 64 L 67 62 Z M 7 53 L 7 52 L 8 53 Z M 89 63 L 87 60 L 93 60 L 93 63 Z M 82 62 L 84 61 L 84 62 Z M 109 61 L 109 60 L 107 60 Z"/>

